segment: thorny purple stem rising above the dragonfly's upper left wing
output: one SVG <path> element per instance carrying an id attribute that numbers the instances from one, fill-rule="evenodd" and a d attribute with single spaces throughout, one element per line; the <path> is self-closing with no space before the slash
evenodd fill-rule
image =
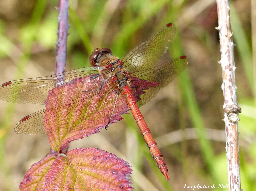
<path id="1" fill-rule="evenodd" d="M 56 68 L 55 74 L 64 72 L 67 57 L 67 37 L 68 37 L 68 0 L 59 1 L 58 16 L 58 40 L 56 43 Z"/>

